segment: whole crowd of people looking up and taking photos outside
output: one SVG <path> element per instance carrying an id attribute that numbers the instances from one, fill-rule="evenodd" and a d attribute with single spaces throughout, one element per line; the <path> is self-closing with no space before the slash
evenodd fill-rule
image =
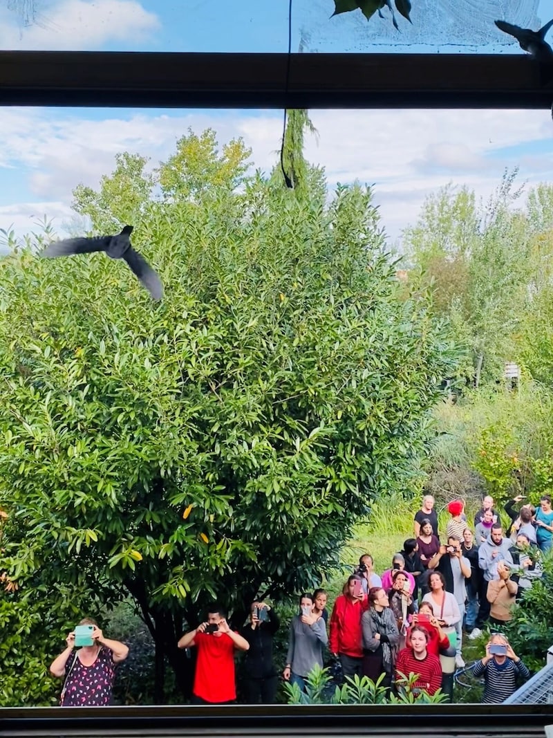
<path id="1" fill-rule="evenodd" d="M 528 504 L 516 509 L 522 500 L 515 497 L 505 507 L 511 520 L 506 534 L 492 497 L 484 497 L 474 530 L 463 500 L 453 500 L 441 539 L 434 498 L 424 497 L 414 516 L 414 537 L 394 554 L 391 568 L 379 575 L 372 556 L 362 555 L 330 617 L 324 590 L 302 593 L 289 626 L 283 679 L 305 690 L 308 675 L 323 666 L 328 649 L 344 677 L 366 676 L 380 679 L 386 689 L 408 685 L 429 695 L 442 689 L 451 697 L 451 676 L 465 667 L 464 635 L 478 638 L 486 624 L 507 622 L 517 598 L 541 576 L 538 552 L 552 545 L 551 499 L 543 495 L 538 510 Z M 127 657 L 128 647 L 105 638 L 95 621 L 85 619 L 82 625 L 90 628 L 90 642 L 74 651 L 77 629 L 69 633 L 66 649 L 50 666 L 53 675 L 63 677 L 60 704 L 107 705 L 116 664 Z M 279 675 L 273 645 L 279 625 L 264 601 L 251 603 L 240 632 L 229 627 L 222 605 L 212 605 L 206 621 L 178 641 L 179 648 L 197 651 L 192 703 L 234 703 L 236 651 L 244 652 L 244 701 L 274 703 Z M 495 633 L 473 674 L 484 678 L 483 702 L 498 703 L 515 692 L 529 670 L 507 638 Z"/>

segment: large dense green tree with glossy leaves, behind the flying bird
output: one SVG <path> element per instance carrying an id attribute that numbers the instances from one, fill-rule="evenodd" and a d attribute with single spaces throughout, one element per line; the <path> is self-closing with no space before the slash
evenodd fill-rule
<path id="1" fill-rule="evenodd" d="M 313 587 L 370 500 L 414 486 L 455 360 L 399 298 L 370 190 L 298 197 L 209 136 L 75 193 L 94 230 L 139 218 L 162 303 L 104 255 L 0 269 L 4 566 L 130 593 L 183 692 L 176 641 L 210 600 L 240 624 Z"/>

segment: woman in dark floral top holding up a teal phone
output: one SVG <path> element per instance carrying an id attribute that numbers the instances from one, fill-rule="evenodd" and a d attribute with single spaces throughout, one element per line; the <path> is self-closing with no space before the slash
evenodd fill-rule
<path id="1" fill-rule="evenodd" d="M 84 618 L 79 625 L 92 625 L 92 646 L 74 651 L 75 634 L 66 638 L 67 648 L 60 653 L 50 672 L 65 677 L 61 691 L 62 707 L 95 707 L 109 705 L 114 686 L 115 666 L 125 661 L 128 646 L 105 638 L 96 621 Z"/>

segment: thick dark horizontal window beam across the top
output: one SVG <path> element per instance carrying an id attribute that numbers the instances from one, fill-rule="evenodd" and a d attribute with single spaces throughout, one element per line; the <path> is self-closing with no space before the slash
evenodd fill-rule
<path id="1" fill-rule="evenodd" d="M 0 105 L 549 108 L 527 55 L 0 52 Z"/>

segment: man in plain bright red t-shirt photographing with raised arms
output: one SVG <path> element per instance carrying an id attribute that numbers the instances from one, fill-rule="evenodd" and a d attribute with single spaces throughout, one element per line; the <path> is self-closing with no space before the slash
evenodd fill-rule
<path id="1" fill-rule="evenodd" d="M 250 644 L 246 638 L 230 629 L 223 607 L 212 605 L 207 613 L 207 621 L 185 633 L 178 641 L 179 648 L 191 646 L 198 649 L 192 704 L 220 705 L 234 702 L 234 649 L 247 651 Z"/>

